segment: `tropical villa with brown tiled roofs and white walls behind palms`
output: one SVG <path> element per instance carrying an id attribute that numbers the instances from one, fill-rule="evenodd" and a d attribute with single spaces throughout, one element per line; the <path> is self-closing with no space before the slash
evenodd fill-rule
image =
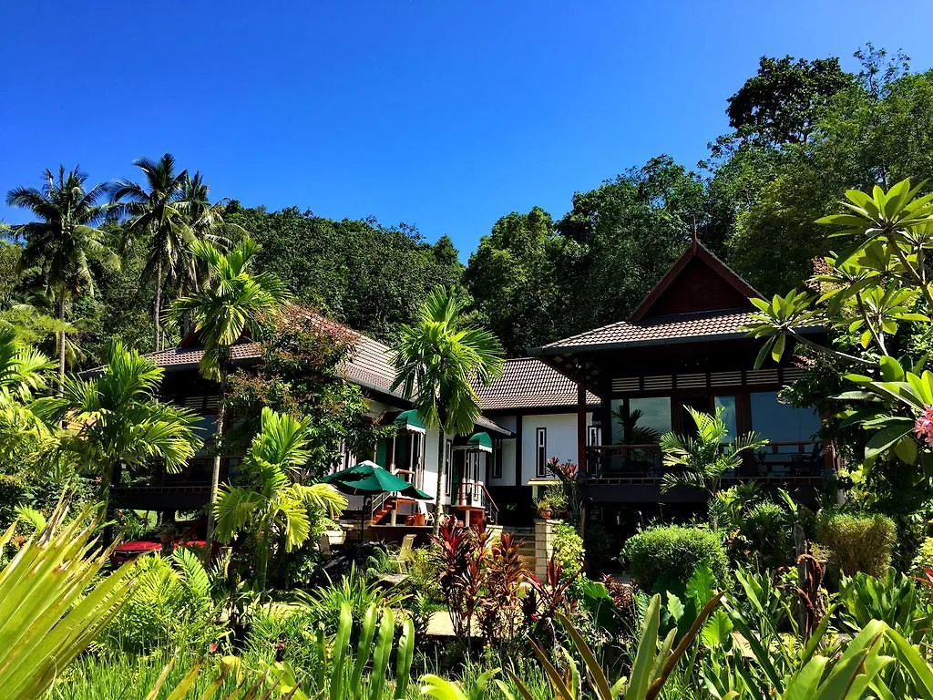
<path id="1" fill-rule="evenodd" d="M 835 467 L 835 456 L 816 437 L 815 411 L 777 399 L 781 386 L 801 369 L 790 360 L 753 369 L 759 342 L 742 328 L 754 310 L 749 300 L 756 296 L 694 240 L 629 318 L 508 360 L 498 380 L 477 387 L 482 418 L 474 432 L 444 436 L 447 510 L 478 525 L 530 525 L 533 498 L 554 483 L 547 464 L 556 457 L 578 465 L 587 517 L 608 529 L 627 530 L 643 513 L 660 508 L 696 511 L 705 500 L 699 489 L 661 492 L 656 440 L 669 430 L 690 431 L 686 406 L 721 409 L 731 435 L 754 429 L 770 441 L 748 455 L 738 473 L 726 474 L 726 482 L 754 479 L 785 487 L 801 500 L 813 499 Z M 345 452 L 334 469 L 369 459 L 435 494 L 438 431 L 425 429 L 411 403 L 391 389 L 395 371 L 389 348 L 360 333 L 354 338 L 354 352 L 341 373 L 367 393 L 373 420 L 395 424 L 397 433 L 374 445 L 371 454 Z M 260 351 L 259 343 L 239 343 L 233 362 L 254 365 Z M 197 339 L 188 337 L 151 357 L 166 370 L 162 395 L 201 413 L 210 434 L 217 391 L 198 373 L 201 355 Z M 641 430 L 626 420 L 632 416 Z M 646 434 L 654 439 L 638 441 Z M 226 469 L 235 469 L 237 459 L 228 455 L 225 462 Z M 113 498 L 141 510 L 196 510 L 209 499 L 210 471 L 209 457 L 196 458 L 182 474 L 163 474 L 147 486 L 117 487 Z M 425 525 L 433 504 L 356 498 L 350 508 L 364 511 L 369 527 L 379 532 Z"/>

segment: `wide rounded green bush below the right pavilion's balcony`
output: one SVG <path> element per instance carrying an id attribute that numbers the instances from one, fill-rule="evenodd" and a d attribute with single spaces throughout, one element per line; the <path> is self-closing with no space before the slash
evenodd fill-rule
<path id="1" fill-rule="evenodd" d="M 729 560 L 719 536 L 700 527 L 649 527 L 625 542 L 622 556 L 644 591 L 683 588 L 701 562 L 712 569 L 717 585 L 728 580 Z"/>

